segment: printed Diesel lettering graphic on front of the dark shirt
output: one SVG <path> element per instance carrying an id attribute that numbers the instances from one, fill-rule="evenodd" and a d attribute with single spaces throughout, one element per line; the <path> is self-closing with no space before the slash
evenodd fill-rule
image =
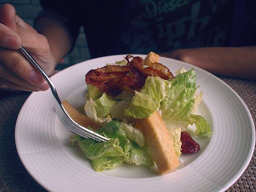
<path id="1" fill-rule="evenodd" d="M 221 21 L 216 26 L 215 16 L 219 12 L 219 5 L 218 0 L 133 2 L 129 10 L 130 19 L 122 34 L 122 49 L 145 53 L 151 50 L 166 52 L 179 48 L 220 46 L 224 44 L 226 24 L 221 25 Z"/>

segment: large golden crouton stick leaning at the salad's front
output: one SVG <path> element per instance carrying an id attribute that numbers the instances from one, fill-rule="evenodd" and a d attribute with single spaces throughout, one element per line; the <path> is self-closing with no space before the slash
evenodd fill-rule
<path id="1" fill-rule="evenodd" d="M 147 119 L 138 119 L 136 127 L 139 128 L 148 143 L 151 157 L 157 164 L 161 174 L 175 169 L 178 165 L 178 158 L 172 145 L 169 133 L 164 125 L 163 119 L 155 111 Z"/>

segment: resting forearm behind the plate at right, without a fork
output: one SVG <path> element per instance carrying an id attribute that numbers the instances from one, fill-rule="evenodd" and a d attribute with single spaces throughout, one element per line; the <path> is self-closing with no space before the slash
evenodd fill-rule
<path id="1" fill-rule="evenodd" d="M 201 67 L 215 75 L 256 80 L 256 46 L 179 49 L 162 55 Z"/>

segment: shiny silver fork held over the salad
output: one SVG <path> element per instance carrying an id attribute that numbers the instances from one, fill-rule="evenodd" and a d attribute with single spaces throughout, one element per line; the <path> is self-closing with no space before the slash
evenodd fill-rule
<path id="1" fill-rule="evenodd" d="M 54 96 L 54 100 L 55 100 L 55 111 L 57 113 L 58 118 L 60 119 L 61 123 L 65 126 L 65 128 L 67 128 L 68 130 L 70 130 L 71 132 L 73 132 L 76 135 L 79 135 L 81 137 L 84 138 L 91 138 L 93 140 L 97 140 L 100 142 L 105 142 L 108 141 L 109 139 L 106 137 L 103 137 L 100 134 L 97 134 L 81 125 L 79 125 L 78 123 L 76 123 L 67 113 L 67 111 L 65 110 L 65 108 L 63 107 L 63 105 L 61 104 L 61 100 L 58 96 L 57 90 L 54 86 L 54 84 L 52 83 L 52 80 L 49 78 L 49 76 L 44 72 L 44 70 L 36 63 L 36 61 L 32 58 L 32 56 L 29 55 L 29 53 L 26 51 L 26 49 L 24 49 L 22 46 L 20 47 L 20 49 L 17 50 L 21 55 L 23 55 L 28 61 L 29 63 L 31 63 L 36 70 L 38 70 L 38 72 L 44 77 L 44 79 L 47 81 L 47 83 L 49 84 L 49 87 L 52 90 L 52 94 Z"/>

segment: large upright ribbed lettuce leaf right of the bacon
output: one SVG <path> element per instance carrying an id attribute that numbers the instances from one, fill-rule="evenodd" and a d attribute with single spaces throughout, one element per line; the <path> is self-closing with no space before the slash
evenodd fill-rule
<path id="1" fill-rule="evenodd" d="M 166 96 L 160 110 L 167 128 L 185 128 L 186 120 L 194 106 L 193 96 L 196 90 L 195 71 L 189 70 L 165 81 Z"/>

